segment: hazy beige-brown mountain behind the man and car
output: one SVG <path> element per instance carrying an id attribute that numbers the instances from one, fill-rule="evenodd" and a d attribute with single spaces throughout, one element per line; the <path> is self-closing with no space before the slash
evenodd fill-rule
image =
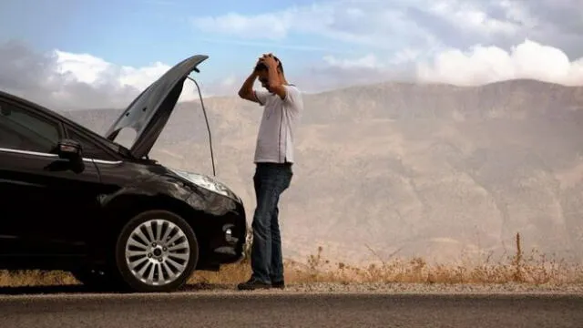
<path id="1" fill-rule="evenodd" d="M 304 95 L 292 186 L 281 199 L 284 256 L 333 261 L 523 247 L 583 259 L 583 87 L 511 80 L 480 87 L 384 83 Z M 251 224 L 261 108 L 204 99 L 217 175 Z M 117 109 L 66 115 L 105 132 Z M 152 157 L 211 174 L 199 102 L 181 103 Z"/>

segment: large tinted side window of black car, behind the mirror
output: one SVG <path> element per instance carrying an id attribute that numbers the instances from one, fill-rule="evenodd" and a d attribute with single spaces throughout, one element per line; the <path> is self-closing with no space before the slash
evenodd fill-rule
<path id="1" fill-rule="evenodd" d="M 50 153 L 59 138 L 55 122 L 0 100 L 0 148 Z"/>

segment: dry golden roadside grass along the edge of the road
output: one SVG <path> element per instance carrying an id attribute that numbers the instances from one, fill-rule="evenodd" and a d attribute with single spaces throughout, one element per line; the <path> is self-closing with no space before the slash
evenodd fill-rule
<path id="1" fill-rule="evenodd" d="M 417 283 L 583 283 L 583 266 L 565 261 L 548 260 L 545 255 L 531 251 L 526 256 L 520 235 L 516 238 L 516 252 L 504 261 L 491 262 L 490 257 L 476 264 L 429 265 L 421 258 L 411 260 L 379 261 L 368 267 L 354 267 L 332 263 L 322 258 L 322 247 L 306 263 L 286 261 L 288 283 L 310 282 L 417 282 Z M 224 266 L 220 272 L 196 272 L 189 283 L 237 283 L 251 274 L 250 261 Z M 75 284 L 77 281 L 65 272 L 2 272 L 0 285 L 33 286 Z"/>

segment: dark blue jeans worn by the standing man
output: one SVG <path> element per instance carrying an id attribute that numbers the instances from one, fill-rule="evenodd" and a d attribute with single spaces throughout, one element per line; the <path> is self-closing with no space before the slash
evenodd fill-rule
<path id="1" fill-rule="evenodd" d="M 289 163 L 257 163 L 255 169 L 253 182 L 257 208 L 251 224 L 251 277 L 261 282 L 283 280 L 278 202 L 281 193 L 290 187 L 292 175 Z"/>

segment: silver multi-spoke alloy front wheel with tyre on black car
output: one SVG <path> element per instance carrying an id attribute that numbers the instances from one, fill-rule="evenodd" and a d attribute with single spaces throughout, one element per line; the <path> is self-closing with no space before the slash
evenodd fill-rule
<path id="1" fill-rule="evenodd" d="M 179 215 L 166 210 L 148 210 L 129 220 L 116 245 L 119 272 L 136 292 L 178 289 L 198 260 L 194 231 Z"/>

